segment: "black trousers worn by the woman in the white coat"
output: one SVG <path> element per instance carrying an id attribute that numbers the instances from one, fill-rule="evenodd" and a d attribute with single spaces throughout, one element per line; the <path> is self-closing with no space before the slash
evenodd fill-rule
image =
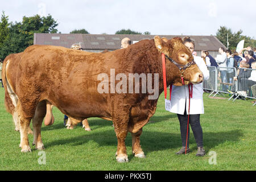
<path id="1" fill-rule="evenodd" d="M 187 126 L 188 126 L 188 115 L 186 110 L 184 115 L 177 114 L 177 117 L 180 121 L 180 134 L 182 140 L 182 146 L 186 146 L 187 140 Z M 189 115 L 189 125 L 193 131 L 194 137 L 196 139 L 197 147 L 203 147 L 203 130 L 200 125 L 200 114 L 190 114 Z M 188 143 L 187 148 L 189 147 L 189 127 L 188 127 Z"/>

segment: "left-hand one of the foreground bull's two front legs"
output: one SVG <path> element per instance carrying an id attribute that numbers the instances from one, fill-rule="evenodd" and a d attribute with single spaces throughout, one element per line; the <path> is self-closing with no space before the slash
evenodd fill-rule
<path id="1" fill-rule="evenodd" d="M 118 115 L 113 117 L 115 134 L 117 135 L 116 159 L 119 163 L 129 162 L 125 146 L 125 139 L 128 133 L 127 126 L 129 121 L 129 114 L 123 113 L 119 110 L 117 112 Z"/>

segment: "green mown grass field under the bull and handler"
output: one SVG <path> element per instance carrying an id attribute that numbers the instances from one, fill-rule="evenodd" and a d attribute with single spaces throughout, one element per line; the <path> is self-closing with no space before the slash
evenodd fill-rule
<path id="1" fill-rule="evenodd" d="M 179 121 L 176 114 L 164 110 L 162 95 L 155 115 L 143 127 L 141 145 L 145 159 L 131 154 L 128 134 L 129 163 L 117 163 L 117 138 L 112 122 L 89 118 L 92 131 L 84 131 L 81 126 L 67 130 L 63 126 L 64 115 L 54 107 L 55 123 L 42 127 L 46 164 L 39 164 L 43 156 L 32 146 L 32 135 L 29 137 L 32 152 L 20 152 L 20 135 L 5 110 L 4 90 L 0 88 L 0 170 L 255 170 L 256 106 L 250 100 L 232 102 L 228 98 L 217 100 L 208 96 L 204 93 L 205 114 L 201 115 L 207 152 L 204 157 L 195 156 L 197 148 L 192 130 L 189 140 L 192 152 L 175 154 L 181 147 Z M 217 154 L 217 164 L 209 163 L 211 151 Z"/>

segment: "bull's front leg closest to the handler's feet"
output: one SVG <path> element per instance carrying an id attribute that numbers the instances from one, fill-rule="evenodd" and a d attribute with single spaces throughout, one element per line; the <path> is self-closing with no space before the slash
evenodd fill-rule
<path id="1" fill-rule="evenodd" d="M 132 136 L 132 150 L 133 150 L 133 155 L 137 158 L 145 158 L 146 156 L 144 155 L 144 152 L 142 151 L 141 148 L 141 134 L 142 134 L 142 129 L 139 130 L 137 133 L 131 133 Z"/>

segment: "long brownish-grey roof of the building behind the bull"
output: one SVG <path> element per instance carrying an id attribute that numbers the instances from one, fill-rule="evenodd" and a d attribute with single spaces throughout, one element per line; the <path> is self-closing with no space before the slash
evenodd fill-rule
<path id="1" fill-rule="evenodd" d="M 130 38 L 131 43 L 143 39 L 154 39 L 155 35 L 108 35 L 108 34 L 34 34 L 34 44 L 63 46 L 70 48 L 72 44 L 81 44 L 82 49 L 86 50 L 115 50 L 121 48 L 121 40 Z M 167 39 L 176 36 L 183 38 L 185 35 L 159 35 Z M 216 36 L 189 36 L 195 40 L 195 51 L 208 50 L 218 51 L 220 47 L 226 48 Z"/>

